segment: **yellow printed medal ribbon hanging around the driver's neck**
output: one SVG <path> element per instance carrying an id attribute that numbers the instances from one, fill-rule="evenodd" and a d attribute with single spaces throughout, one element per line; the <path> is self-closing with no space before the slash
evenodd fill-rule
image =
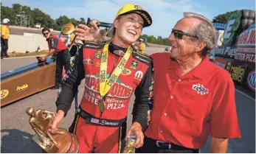
<path id="1" fill-rule="evenodd" d="M 101 57 L 101 63 L 100 63 L 100 95 L 102 97 L 104 97 L 105 94 L 108 93 L 112 85 L 116 82 L 116 80 L 120 76 L 122 70 L 125 69 L 125 64 L 127 63 L 132 52 L 131 46 L 129 46 L 127 51 L 125 52 L 125 55 L 122 57 L 122 60 L 120 60 L 120 63 L 118 63 L 116 69 L 114 69 L 113 73 L 107 80 L 106 78 L 107 78 L 107 68 L 108 68 L 109 43 L 111 43 L 111 40 L 105 43 L 105 46 L 103 48 L 103 55 Z"/>

